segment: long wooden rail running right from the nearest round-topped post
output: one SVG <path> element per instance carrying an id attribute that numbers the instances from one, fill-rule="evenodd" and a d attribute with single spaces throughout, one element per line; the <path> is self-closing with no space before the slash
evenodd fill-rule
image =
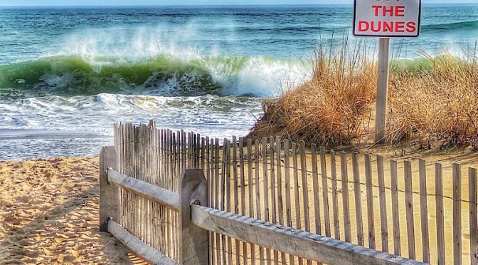
<path id="1" fill-rule="evenodd" d="M 326 264 L 424 264 L 344 241 L 193 205 L 193 224 L 211 232 Z"/>

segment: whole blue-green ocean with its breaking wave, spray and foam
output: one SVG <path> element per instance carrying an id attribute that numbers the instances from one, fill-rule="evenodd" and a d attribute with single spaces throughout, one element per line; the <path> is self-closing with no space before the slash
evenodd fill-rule
<path id="1" fill-rule="evenodd" d="M 246 135 L 351 19 L 352 6 L 0 7 L 0 160 L 97 155 L 117 121 Z M 425 4 L 420 38 L 393 47 L 460 53 L 477 36 L 478 3 Z"/>

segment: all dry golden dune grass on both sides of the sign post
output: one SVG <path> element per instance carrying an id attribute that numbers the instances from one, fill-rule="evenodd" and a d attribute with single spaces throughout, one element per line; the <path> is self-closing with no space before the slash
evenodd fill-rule
<path id="1" fill-rule="evenodd" d="M 312 78 L 263 105 L 249 137 L 280 135 L 329 147 L 371 139 L 376 58 L 367 41 L 318 44 Z M 391 62 L 388 145 L 478 148 L 478 49 Z"/>

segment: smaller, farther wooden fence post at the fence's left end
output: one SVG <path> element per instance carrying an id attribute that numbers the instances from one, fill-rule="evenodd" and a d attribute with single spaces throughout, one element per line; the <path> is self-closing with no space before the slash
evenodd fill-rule
<path id="1" fill-rule="evenodd" d="M 100 152 L 100 232 L 108 232 L 108 219 L 119 223 L 119 187 L 108 184 L 108 168 L 117 170 L 118 163 L 114 146 L 102 147 Z"/>

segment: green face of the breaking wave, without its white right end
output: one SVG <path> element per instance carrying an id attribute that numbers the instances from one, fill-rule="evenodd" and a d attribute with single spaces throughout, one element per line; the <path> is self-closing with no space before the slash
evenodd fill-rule
<path id="1" fill-rule="evenodd" d="M 31 88 L 38 94 L 95 95 L 160 88 L 175 80 L 171 95 L 217 94 L 221 85 L 201 63 L 181 63 L 164 56 L 141 63 L 89 63 L 78 56 L 55 56 L 0 66 L 0 88 Z M 33 91 L 32 91 L 33 92 Z"/>

